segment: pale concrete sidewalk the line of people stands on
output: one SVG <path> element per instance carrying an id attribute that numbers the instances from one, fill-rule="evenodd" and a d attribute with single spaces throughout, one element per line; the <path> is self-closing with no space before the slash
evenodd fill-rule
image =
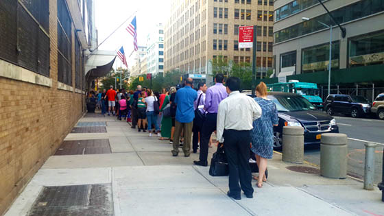
<path id="1" fill-rule="evenodd" d="M 264 187 L 252 182 L 253 199 L 232 200 L 228 177 L 193 166 L 198 154 L 173 157 L 168 141 L 95 116 L 80 119 L 5 215 L 384 215 L 377 188 L 323 178 L 279 154 Z"/>

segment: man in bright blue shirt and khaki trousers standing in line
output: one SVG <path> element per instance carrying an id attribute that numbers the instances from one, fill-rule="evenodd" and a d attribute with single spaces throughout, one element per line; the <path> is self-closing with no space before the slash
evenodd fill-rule
<path id="1" fill-rule="evenodd" d="M 176 93 L 175 104 L 176 120 L 175 120 L 175 133 L 173 134 L 173 150 L 172 155 L 178 156 L 179 154 L 179 141 L 180 134 L 184 129 L 184 144 L 182 151 L 184 156 L 189 157 L 191 154 L 191 139 L 193 119 L 195 118 L 195 108 L 193 102 L 197 99 L 197 92 L 192 88 L 193 79 L 187 78 L 185 80 L 185 87 L 180 88 Z"/>

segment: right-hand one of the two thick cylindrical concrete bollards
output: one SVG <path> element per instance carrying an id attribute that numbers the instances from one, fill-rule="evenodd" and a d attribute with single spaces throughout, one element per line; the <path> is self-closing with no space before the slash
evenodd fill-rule
<path id="1" fill-rule="evenodd" d="M 327 178 L 347 178 L 346 134 L 322 134 L 320 174 Z"/>

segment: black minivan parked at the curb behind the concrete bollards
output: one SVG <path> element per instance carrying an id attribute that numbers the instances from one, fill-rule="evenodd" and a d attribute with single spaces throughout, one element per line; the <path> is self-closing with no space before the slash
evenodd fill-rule
<path id="1" fill-rule="evenodd" d="M 274 127 L 275 148 L 282 146 L 284 126 L 304 128 L 304 145 L 320 144 L 322 134 L 339 132 L 335 119 L 317 110 L 302 95 L 269 92 L 267 97 L 274 101 L 278 110 L 278 126 Z"/>

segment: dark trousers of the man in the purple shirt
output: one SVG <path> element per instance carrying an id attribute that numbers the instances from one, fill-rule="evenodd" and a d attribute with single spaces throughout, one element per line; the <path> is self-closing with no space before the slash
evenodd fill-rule
<path id="1" fill-rule="evenodd" d="M 208 113 L 200 133 L 200 156 L 199 159 L 207 161 L 208 143 L 211 134 L 216 130 L 217 113 Z"/>

